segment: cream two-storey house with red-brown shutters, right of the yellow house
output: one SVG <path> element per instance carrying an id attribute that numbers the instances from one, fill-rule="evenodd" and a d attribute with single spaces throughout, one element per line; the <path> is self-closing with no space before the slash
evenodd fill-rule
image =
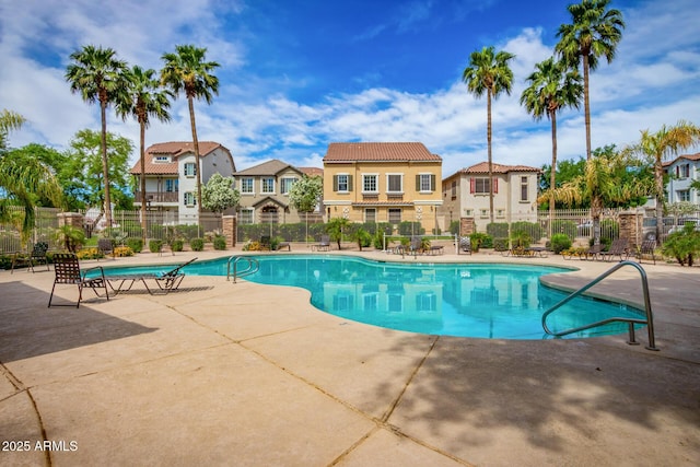
<path id="1" fill-rule="evenodd" d="M 493 221 L 537 222 L 537 187 L 541 171 L 526 165 L 492 164 L 492 173 Z M 488 162 L 463 168 L 442 180 L 442 229 L 448 229 L 452 221 L 467 219 L 471 220 L 474 231 L 486 232 L 491 222 L 489 192 Z"/>

